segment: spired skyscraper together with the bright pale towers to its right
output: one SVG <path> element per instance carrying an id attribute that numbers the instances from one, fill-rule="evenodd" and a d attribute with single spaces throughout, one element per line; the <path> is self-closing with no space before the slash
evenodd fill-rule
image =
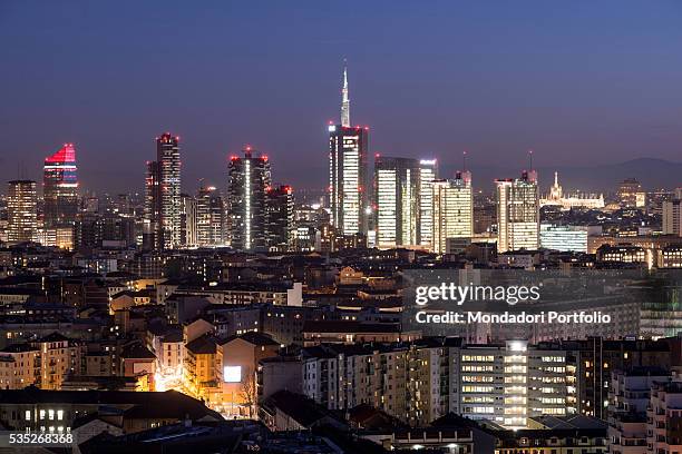
<path id="1" fill-rule="evenodd" d="M 329 125 L 329 204 L 332 226 L 379 248 L 409 247 L 439 254 L 461 249 L 474 237 L 471 172 L 439 179 L 436 159 L 374 156 L 369 175 L 369 128 L 350 122 L 348 73 L 343 73 L 341 124 Z M 369 190 L 372 185 L 372 190 Z M 539 246 L 537 174 L 497 180 L 500 251 Z"/>

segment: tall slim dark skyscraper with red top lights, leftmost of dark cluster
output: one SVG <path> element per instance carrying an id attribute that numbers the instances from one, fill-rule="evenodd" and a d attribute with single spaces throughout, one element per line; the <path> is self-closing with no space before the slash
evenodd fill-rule
<path id="1" fill-rule="evenodd" d="M 156 138 L 156 161 L 147 162 L 145 228 L 148 247 L 182 246 L 179 137 L 169 132 Z"/>

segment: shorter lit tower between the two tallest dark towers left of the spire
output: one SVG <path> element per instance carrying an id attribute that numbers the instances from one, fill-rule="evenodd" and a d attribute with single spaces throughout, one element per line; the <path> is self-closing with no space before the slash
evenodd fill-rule
<path id="1" fill-rule="evenodd" d="M 196 237 L 199 246 L 225 244 L 225 205 L 214 186 L 202 186 L 196 194 Z"/>

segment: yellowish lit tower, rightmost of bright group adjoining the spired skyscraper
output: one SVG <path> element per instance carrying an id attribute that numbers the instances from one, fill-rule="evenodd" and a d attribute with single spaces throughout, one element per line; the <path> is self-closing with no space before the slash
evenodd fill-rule
<path id="1" fill-rule="evenodd" d="M 462 249 L 474 236 L 471 172 L 458 171 L 455 179 L 435 180 L 432 197 L 433 253 Z"/>

